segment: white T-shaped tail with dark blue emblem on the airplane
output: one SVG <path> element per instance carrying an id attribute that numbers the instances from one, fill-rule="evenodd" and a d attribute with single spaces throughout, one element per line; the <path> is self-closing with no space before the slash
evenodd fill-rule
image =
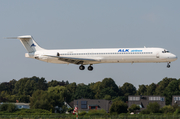
<path id="1" fill-rule="evenodd" d="M 30 35 L 18 36 L 18 37 L 8 37 L 6 39 L 19 39 L 28 53 L 33 53 L 39 50 L 44 50 L 41 48 Z"/>

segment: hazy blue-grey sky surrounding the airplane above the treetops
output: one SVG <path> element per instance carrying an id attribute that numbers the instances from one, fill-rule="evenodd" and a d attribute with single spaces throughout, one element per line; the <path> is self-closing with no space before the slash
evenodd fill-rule
<path id="1" fill-rule="evenodd" d="M 180 56 L 179 0 L 0 0 L 0 82 L 23 77 L 89 84 L 112 78 L 118 86 L 180 78 L 179 59 L 167 63 L 51 64 L 25 58 L 19 40 L 32 35 L 45 49 L 160 47 Z"/>

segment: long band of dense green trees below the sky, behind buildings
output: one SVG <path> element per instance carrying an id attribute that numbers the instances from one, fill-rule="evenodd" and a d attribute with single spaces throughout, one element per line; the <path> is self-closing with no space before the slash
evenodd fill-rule
<path id="1" fill-rule="evenodd" d="M 63 80 L 47 82 L 45 78 L 33 76 L 0 84 L 0 102 L 30 103 L 32 109 L 49 111 L 54 111 L 55 106 L 62 107 L 64 101 L 69 103 L 74 99 L 89 98 L 127 102 L 128 95 L 165 96 L 169 105 L 172 95 L 180 95 L 180 79 L 166 77 L 157 84 L 139 85 L 138 89 L 128 82 L 118 86 L 112 78 L 86 85 Z"/>

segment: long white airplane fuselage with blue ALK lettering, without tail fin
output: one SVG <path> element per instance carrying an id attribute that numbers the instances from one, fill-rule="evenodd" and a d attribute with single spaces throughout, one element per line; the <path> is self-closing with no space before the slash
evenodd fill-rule
<path id="1" fill-rule="evenodd" d="M 90 60 L 85 60 L 82 65 L 98 63 L 159 63 L 172 62 L 177 59 L 176 55 L 163 48 L 44 49 L 34 53 L 26 53 L 26 57 L 49 63 L 69 64 L 69 62 L 58 60 L 58 58 L 49 57 L 56 56 L 57 53 L 59 53 L 59 57 Z"/>

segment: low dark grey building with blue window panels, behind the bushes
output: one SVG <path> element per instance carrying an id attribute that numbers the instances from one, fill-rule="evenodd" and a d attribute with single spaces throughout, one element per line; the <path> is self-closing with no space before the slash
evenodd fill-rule
<path id="1" fill-rule="evenodd" d="M 104 109 L 109 112 L 112 101 L 105 99 L 78 99 L 73 101 L 74 107 L 78 107 L 79 111 L 89 111 L 91 109 Z"/>

